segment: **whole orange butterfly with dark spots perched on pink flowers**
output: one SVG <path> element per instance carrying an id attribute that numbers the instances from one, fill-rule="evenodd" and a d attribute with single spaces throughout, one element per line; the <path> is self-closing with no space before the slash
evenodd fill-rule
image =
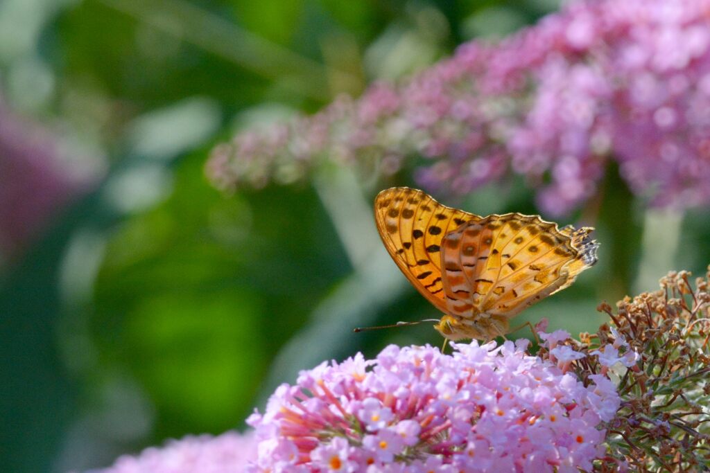
<path id="1" fill-rule="evenodd" d="M 375 199 L 383 243 L 407 279 L 445 315 L 444 338 L 492 340 L 523 309 L 566 288 L 596 263 L 591 227 L 557 228 L 540 216 L 481 217 L 393 187 Z"/>

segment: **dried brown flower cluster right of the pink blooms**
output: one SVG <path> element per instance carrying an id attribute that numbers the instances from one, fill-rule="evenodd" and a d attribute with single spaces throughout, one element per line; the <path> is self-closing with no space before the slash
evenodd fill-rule
<path id="1" fill-rule="evenodd" d="M 608 424 L 608 455 L 597 471 L 710 468 L 710 267 L 695 289 L 690 276 L 670 272 L 659 291 L 626 297 L 616 313 L 601 304 L 611 322 L 581 337 L 589 346 L 621 335 L 640 355 L 633 367 L 616 373 L 621 408 Z"/>

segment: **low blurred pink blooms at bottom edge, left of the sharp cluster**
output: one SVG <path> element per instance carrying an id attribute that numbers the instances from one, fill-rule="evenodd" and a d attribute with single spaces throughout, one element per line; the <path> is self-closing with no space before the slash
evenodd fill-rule
<path id="1" fill-rule="evenodd" d="M 227 432 L 172 440 L 165 447 L 149 447 L 137 457 L 124 455 L 109 468 L 94 473 L 233 473 L 256 460 L 256 437 Z"/>

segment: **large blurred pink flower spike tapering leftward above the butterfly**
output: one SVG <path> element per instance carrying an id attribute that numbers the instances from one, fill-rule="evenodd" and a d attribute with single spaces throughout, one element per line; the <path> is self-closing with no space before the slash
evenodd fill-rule
<path id="1" fill-rule="evenodd" d="M 537 25 L 358 101 L 237 135 L 207 171 L 222 188 L 290 182 L 324 160 L 466 193 L 522 174 L 560 214 L 596 192 L 609 159 L 652 204 L 710 201 L 710 0 L 577 0 Z"/>

